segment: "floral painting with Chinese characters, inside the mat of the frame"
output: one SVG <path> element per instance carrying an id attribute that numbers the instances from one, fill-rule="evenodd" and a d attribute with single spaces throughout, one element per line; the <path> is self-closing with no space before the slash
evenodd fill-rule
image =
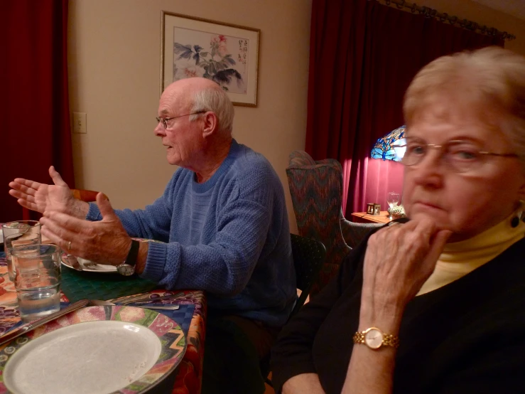
<path id="1" fill-rule="evenodd" d="M 174 81 L 204 77 L 214 80 L 227 92 L 247 94 L 244 81 L 249 72 L 249 40 L 204 31 L 190 31 L 188 34 L 184 28 L 174 30 Z"/>

